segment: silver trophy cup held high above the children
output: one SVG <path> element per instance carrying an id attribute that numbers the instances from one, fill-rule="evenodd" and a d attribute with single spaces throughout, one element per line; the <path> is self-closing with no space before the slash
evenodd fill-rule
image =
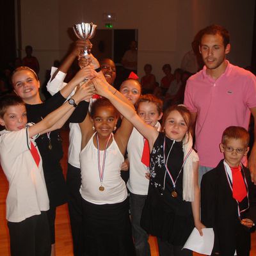
<path id="1" fill-rule="evenodd" d="M 83 40 L 89 40 L 91 38 L 93 38 L 93 36 L 95 35 L 95 31 L 96 31 L 97 25 L 93 24 L 93 23 L 79 23 L 79 24 L 74 24 L 73 29 L 74 32 L 76 34 L 76 36 L 79 39 L 83 39 Z M 85 47 L 84 51 L 81 52 L 81 57 L 88 57 L 88 55 L 90 55 L 91 53 L 91 49 L 92 49 L 92 44 L 90 44 L 90 46 Z"/>

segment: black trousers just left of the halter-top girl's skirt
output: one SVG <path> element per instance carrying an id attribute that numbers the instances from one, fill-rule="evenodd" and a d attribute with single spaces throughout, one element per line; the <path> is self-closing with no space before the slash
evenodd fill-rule
<path id="1" fill-rule="evenodd" d="M 82 197 L 79 192 L 81 187 L 81 169 L 68 164 L 67 189 L 68 189 L 68 212 L 73 239 L 74 256 L 86 255 L 84 252 L 84 228 Z"/>

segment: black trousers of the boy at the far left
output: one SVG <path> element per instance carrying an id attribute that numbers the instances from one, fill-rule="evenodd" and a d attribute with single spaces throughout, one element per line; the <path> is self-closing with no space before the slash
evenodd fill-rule
<path id="1" fill-rule="evenodd" d="M 46 212 L 20 222 L 8 221 L 12 256 L 51 255 L 50 231 Z"/>

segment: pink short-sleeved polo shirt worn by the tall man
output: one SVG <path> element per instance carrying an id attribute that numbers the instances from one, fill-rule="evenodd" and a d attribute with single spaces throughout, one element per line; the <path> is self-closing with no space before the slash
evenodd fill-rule
<path id="1" fill-rule="evenodd" d="M 206 67 L 188 79 L 184 104 L 197 113 L 195 148 L 201 166 L 216 167 L 221 135 L 230 125 L 248 129 L 250 108 L 256 107 L 256 78 L 227 61 L 225 72 L 217 79 L 206 74 Z"/>

